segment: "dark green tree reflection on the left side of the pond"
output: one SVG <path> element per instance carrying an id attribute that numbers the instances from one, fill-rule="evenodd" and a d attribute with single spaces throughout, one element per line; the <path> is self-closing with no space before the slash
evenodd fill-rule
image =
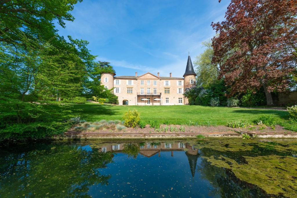
<path id="1" fill-rule="evenodd" d="M 108 185 L 111 176 L 101 175 L 99 168 L 112 162 L 111 152 L 89 151 L 76 144 L 38 145 L 39 149 L 0 158 L 1 195 L 89 197 L 90 186 Z"/>

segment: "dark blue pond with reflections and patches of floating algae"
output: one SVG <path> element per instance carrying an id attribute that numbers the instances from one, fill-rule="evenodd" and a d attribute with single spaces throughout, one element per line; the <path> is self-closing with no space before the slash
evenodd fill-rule
<path id="1" fill-rule="evenodd" d="M 297 140 L 86 140 L 0 148 L 0 197 L 297 197 Z"/>

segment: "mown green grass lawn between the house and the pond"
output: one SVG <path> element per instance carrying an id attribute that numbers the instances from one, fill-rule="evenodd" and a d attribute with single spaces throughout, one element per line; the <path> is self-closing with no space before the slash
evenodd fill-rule
<path id="1" fill-rule="evenodd" d="M 282 126 L 291 125 L 287 122 L 289 114 L 286 111 L 195 105 L 115 106 L 88 102 L 84 105 L 73 105 L 72 114 L 86 121 L 123 120 L 123 114 L 128 109 L 138 110 L 141 120 L 145 122 L 157 120 L 161 124 L 166 121 L 170 124 L 187 124 L 191 121 L 193 125 L 226 125 L 227 122 L 239 119 L 252 123 L 258 116 L 271 115 L 276 116 Z"/>

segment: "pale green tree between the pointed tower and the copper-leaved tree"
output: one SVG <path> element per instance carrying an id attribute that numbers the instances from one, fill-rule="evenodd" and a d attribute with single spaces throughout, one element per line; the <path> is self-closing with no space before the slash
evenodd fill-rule
<path id="1" fill-rule="evenodd" d="M 196 56 L 194 65 L 196 66 L 197 84 L 208 88 L 212 83 L 217 81 L 219 76 L 219 64 L 212 63 L 214 50 L 211 46 L 211 40 L 203 42 L 202 45 L 206 48 L 203 53 Z"/>

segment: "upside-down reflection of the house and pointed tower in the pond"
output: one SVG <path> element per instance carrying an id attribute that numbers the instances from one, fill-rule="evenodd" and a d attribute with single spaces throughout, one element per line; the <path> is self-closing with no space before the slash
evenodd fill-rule
<path id="1" fill-rule="evenodd" d="M 125 148 L 125 144 L 104 144 L 99 151 L 101 152 L 121 152 Z M 192 173 L 192 177 L 195 175 L 197 160 L 199 157 L 198 149 L 194 148 L 187 143 L 147 143 L 139 145 L 139 153 L 146 157 L 151 157 L 158 153 L 161 156 L 161 151 L 171 151 L 171 156 L 173 157 L 173 151 L 182 151 L 186 149 L 186 155 L 189 160 L 189 165 Z"/>

